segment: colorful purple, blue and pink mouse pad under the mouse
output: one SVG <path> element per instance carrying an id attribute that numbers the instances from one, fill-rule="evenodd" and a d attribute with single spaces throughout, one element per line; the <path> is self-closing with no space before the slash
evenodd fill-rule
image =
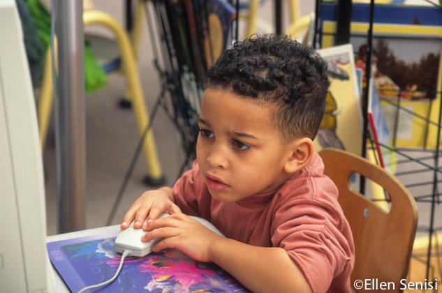
<path id="1" fill-rule="evenodd" d="M 72 292 L 114 276 L 121 255 L 115 232 L 47 243 L 50 260 Z M 249 292 L 213 263 L 197 262 L 178 250 L 126 257 L 110 285 L 88 292 Z"/>

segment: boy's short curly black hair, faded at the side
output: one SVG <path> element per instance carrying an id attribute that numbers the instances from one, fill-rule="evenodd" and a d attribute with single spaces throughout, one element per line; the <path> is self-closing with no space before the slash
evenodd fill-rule
<path id="1" fill-rule="evenodd" d="M 207 87 L 274 103 L 273 120 L 283 141 L 314 140 L 330 86 L 326 70 L 327 63 L 309 45 L 288 36 L 252 36 L 221 54 L 207 72 Z"/>

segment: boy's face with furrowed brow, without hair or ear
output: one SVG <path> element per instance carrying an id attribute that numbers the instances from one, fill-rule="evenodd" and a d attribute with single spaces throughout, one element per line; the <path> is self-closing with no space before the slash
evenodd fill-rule
<path id="1" fill-rule="evenodd" d="M 272 123 L 274 106 L 208 88 L 202 99 L 196 156 L 212 197 L 236 202 L 279 187 L 290 144 Z"/>

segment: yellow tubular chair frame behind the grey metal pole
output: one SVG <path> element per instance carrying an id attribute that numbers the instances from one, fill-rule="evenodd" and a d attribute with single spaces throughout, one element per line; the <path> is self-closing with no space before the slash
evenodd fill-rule
<path id="1" fill-rule="evenodd" d="M 149 115 L 145 105 L 144 95 L 140 77 L 138 75 L 138 66 L 134 56 L 132 44 L 128 38 L 126 31 L 119 23 L 107 13 L 98 10 L 88 10 L 83 13 L 84 26 L 89 24 L 101 24 L 107 27 L 115 34 L 115 39 L 121 54 L 121 63 L 126 75 L 128 89 L 131 92 L 131 102 L 133 103 L 133 111 L 135 119 L 138 123 L 138 130 L 142 135 L 143 130 L 149 123 Z M 52 111 L 53 93 L 52 93 L 52 62 L 50 58 L 50 49 L 47 50 L 45 70 L 43 73 L 43 81 L 41 86 L 40 100 L 38 103 L 38 118 L 40 121 L 40 142 L 42 149 L 45 145 L 45 137 L 47 135 L 47 127 Z M 145 181 L 153 185 L 159 185 L 164 182 L 163 172 L 158 160 L 154 135 L 152 129 L 145 136 L 143 151 L 147 165 L 148 176 Z"/>

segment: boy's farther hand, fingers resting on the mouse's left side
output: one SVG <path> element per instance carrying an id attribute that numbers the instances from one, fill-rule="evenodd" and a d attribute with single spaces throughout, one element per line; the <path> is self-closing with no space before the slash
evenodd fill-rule
<path id="1" fill-rule="evenodd" d="M 143 193 L 138 200 L 133 202 L 132 206 L 124 215 L 124 220 L 121 223 L 121 229 L 126 229 L 131 225 L 132 220 L 135 218 L 133 223 L 134 228 L 142 227 L 144 230 L 147 229 L 147 223 L 145 223 L 145 218 L 149 215 L 148 221 L 156 220 L 161 213 L 181 213 L 179 207 L 170 200 L 171 193 L 170 188 L 160 188 L 158 190 L 148 190 Z M 145 223 L 143 225 L 143 223 Z"/>

